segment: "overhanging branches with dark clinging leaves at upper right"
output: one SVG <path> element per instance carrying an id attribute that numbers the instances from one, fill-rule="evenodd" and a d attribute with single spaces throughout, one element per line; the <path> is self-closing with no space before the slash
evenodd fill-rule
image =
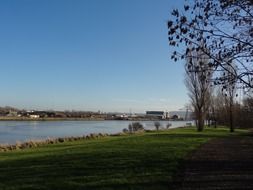
<path id="1" fill-rule="evenodd" d="M 190 50 L 201 51 L 208 56 L 210 69 L 230 72 L 243 87 L 252 89 L 253 1 L 188 2 L 184 11 L 173 10 L 168 21 L 169 44 L 176 48 L 171 58 L 177 61 L 185 59 Z M 204 42 L 204 46 L 200 42 Z M 239 68 L 238 72 L 233 72 L 232 67 L 228 69 L 231 62 Z M 225 85 L 223 77 L 217 77 L 219 74 L 214 76 L 215 84 Z"/>

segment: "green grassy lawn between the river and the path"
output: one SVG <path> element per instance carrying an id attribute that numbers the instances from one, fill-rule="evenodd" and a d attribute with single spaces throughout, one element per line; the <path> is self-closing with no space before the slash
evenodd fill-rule
<path id="1" fill-rule="evenodd" d="M 229 135 L 173 129 L 2 152 L 0 189 L 168 189 L 187 153 Z"/>

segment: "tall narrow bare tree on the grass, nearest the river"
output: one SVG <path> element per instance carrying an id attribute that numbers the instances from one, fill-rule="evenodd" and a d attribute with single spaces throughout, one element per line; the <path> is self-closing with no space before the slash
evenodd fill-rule
<path id="1" fill-rule="evenodd" d="M 203 131 L 211 96 L 212 72 L 209 71 L 208 58 L 199 51 L 189 51 L 185 71 L 185 85 L 194 107 L 197 130 Z"/>

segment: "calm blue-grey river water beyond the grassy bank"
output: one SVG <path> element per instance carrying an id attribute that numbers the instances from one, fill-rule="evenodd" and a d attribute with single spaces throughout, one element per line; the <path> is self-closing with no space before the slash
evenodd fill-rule
<path id="1" fill-rule="evenodd" d="M 0 144 L 47 138 L 83 136 L 91 133 L 119 133 L 132 121 L 0 121 Z M 161 128 L 185 126 L 186 121 L 159 121 Z M 154 121 L 140 121 L 145 129 L 155 129 Z M 187 121 L 187 123 L 189 123 Z"/>

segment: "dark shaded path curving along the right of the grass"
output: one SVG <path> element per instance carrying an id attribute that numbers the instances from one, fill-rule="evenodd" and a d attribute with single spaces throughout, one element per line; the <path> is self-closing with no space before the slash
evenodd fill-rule
<path id="1" fill-rule="evenodd" d="M 171 189 L 253 190 L 253 136 L 215 139 L 183 164 Z"/>

